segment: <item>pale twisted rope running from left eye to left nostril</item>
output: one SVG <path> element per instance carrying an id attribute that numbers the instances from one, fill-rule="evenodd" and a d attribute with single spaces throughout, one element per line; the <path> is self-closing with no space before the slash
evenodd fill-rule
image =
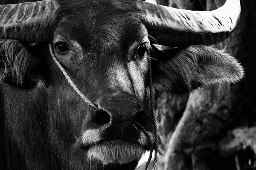
<path id="1" fill-rule="evenodd" d="M 81 98 L 84 100 L 84 102 L 86 102 L 90 107 L 94 108 L 95 110 L 99 111 L 100 109 L 94 105 L 92 102 L 90 102 L 90 100 L 88 100 L 84 94 L 82 94 L 81 91 L 79 91 L 79 89 L 76 87 L 76 85 L 73 83 L 73 81 L 70 79 L 70 77 L 68 76 L 67 72 L 65 71 L 65 69 L 62 67 L 61 63 L 58 62 L 58 60 L 56 59 L 53 51 L 52 51 L 52 45 L 49 44 L 49 49 L 50 49 L 50 54 L 52 56 L 52 59 L 55 61 L 55 63 L 58 65 L 58 67 L 61 69 L 62 73 L 64 74 L 64 76 L 66 77 L 67 81 L 69 82 L 69 84 L 73 87 L 73 89 L 76 91 L 77 94 L 79 94 L 79 96 L 81 96 Z"/>

